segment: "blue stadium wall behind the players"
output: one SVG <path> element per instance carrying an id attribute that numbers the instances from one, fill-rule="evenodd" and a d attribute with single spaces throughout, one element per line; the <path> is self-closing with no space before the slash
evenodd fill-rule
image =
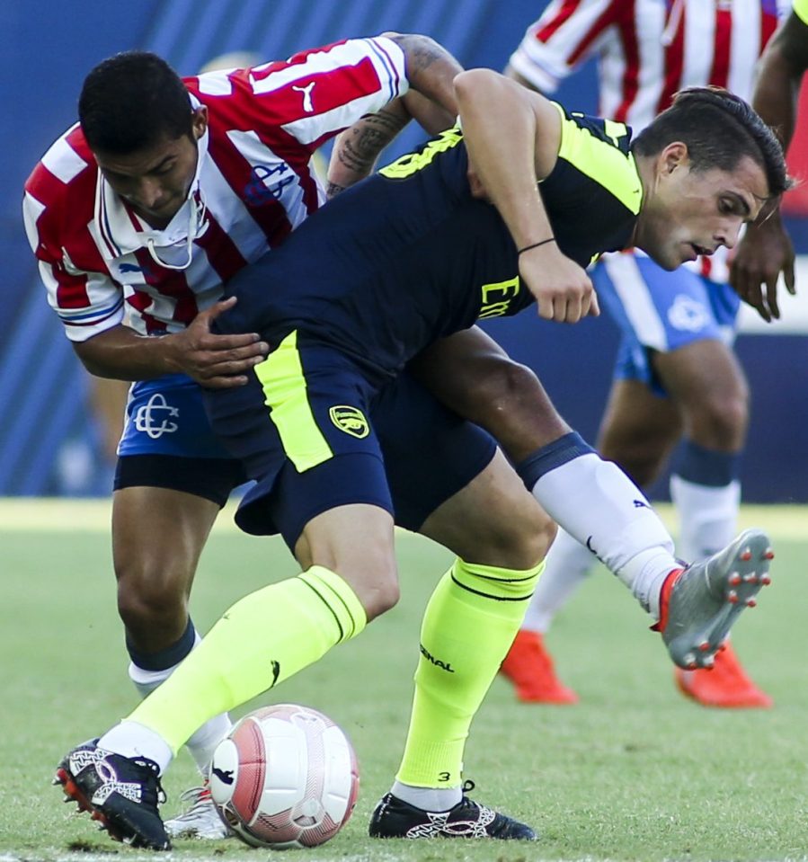
<path id="1" fill-rule="evenodd" d="M 0 253 L 5 314 L 0 329 L 0 495 L 105 493 L 86 376 L 49 310 L 20 219 L 22 182 L 50 141 L 75 120 L 87 70 L 118 50 L 150 49 L 181 74 L 232 50 L 282 58 L 297 49 L 384 30 L 424 32 L 466 66 L 501 68 L 546 0 L 125 0 L 0 4 Z M 595 109 L 583 70 L 561 97 Z M 390 153 L 417 142 L 407 132 Z M 797 242 L 808 250 L 802 225 Z M 610 380 L 617 335 L 608 319 L 574 327 L 519 319 L 487 327 L 537 370 L 565 418 L 593 440 Z M 802 333 L 744 334 L 738 351 L 750 376 L 753 415 L 743 462 L 747 500 L 808 502 L 808 350 Z M 84 470 L 84 472 L 82 472 Z M 71 484 L 69 475 L 83 475 Z M 66 476 L 68 478 L 66 478 Z M 90 478 L 88 479 L 87 476 Z M 665 496 L 661 482 L 653 489 Z"/>

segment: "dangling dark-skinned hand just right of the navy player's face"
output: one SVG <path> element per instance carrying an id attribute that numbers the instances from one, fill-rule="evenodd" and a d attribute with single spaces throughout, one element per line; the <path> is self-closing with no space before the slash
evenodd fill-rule
<path id="1" fill-rule="evenodd" d="M 767 323 L 780 316 L 777 304 L 780 272 L 783 273 L 786 290 L 794 295 L 794 245 L 776 212 L 770 218 L 747 227 L 730 263 L 733 290 L 744 302 L 756 308 Z"/>

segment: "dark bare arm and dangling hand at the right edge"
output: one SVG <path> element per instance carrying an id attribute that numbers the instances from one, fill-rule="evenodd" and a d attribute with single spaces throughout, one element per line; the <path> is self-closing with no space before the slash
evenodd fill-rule
<path id="1" fill-rule="evenodd" d="M 797 94 L 806 68 L 808 26 L 791 13 L 760 59 L 758 81 L 752 95 L 752 106 L 775 130 L 786 149 L 794 137 Z M 738 244 L 730 283 L 764 320 L 771 321 L 780 316 L 777 280 L 781 272 L 786 289 L 795 293 L 795 255 L 779 207 L 767 210 L 747 228 Z"/>

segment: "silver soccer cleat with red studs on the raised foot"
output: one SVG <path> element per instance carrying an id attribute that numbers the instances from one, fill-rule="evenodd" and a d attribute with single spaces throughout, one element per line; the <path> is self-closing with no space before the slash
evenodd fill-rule
<path id="1" fill-rule="evenodd" d="M 686 670 L 713 666 L 738 615 L 771 582 L 773 557 L 766 533 L 746 529 L 723 551 L 688 565 L 673 582 L 660 627 L 673 662 Z"/>

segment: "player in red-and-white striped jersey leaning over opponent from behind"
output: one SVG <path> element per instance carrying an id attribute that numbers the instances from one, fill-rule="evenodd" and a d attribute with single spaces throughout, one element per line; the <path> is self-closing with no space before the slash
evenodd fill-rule
<path id="1" fill-rule="evenodd" d="M 459 70 L 432 40 L 395 33 L 182 81 L 159 58 L 122 54 L 87 77 L 82 124 L 26 182 L 31 249 L 76 354 L 100 377 L 139 381 L 118 450 L 112 541 L 141 695 L 199 640 L 191 583 L 219 509 L 244 482 L 209 429 L 200 385 L 243 385 L 267 345 L 209 332 L 226 307 L 223 282 L 324 202 L 317 147 L 366 118 L 331 172 L 330 191 L 350 185 L 410 112 L 431 132 L 451 124 Z M 200 769 L 229 726 L 218 716 L 191 738 Z M 200 799 L 202 819 L 176 828 L 217 836 L 224 827 Z"/>

